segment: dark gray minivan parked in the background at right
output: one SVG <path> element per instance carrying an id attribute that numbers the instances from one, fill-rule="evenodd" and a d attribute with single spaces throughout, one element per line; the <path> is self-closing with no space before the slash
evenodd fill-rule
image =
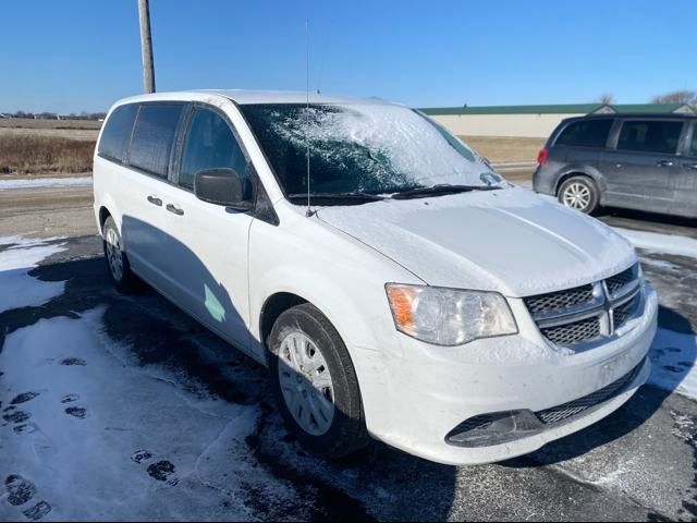
<path id="1" fill-rule="evenodd" d="M 697 218 L 697 114 L 571 118 L 538 163 L 535 191 L 583 212 L 608 206 Z"/>

